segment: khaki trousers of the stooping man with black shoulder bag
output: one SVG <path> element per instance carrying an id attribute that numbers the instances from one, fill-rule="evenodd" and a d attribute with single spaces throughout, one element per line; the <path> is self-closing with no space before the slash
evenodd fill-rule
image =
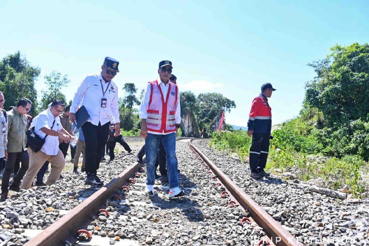
<path id="1" fill-rule="evenodd" d="M 29 189 L 37 175 L 38 171 L 41 169 L 42 165 L 49 161 L 51 163 L 51 170 L 48 179 L 46 180 L 45 184 L 50 185 L 54 184 L 56 180 L 59 179 L 60 174 L 62 173 L 64 166 L 65 166 L 65 159 L 63 153 L 59 150 L 58 154 L 55 156 L 46 155 L 41 150 L 38 152 L 33 152 L 31 149 L 28 149 L 30 153 L 30 164 L 28 167 L 27 172 L 23 177 L 23 181 L 20 185 L 21 189 Z"/>

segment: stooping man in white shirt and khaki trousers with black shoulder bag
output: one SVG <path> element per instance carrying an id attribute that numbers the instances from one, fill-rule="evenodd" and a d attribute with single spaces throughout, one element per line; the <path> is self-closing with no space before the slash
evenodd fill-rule
<path id="1" fill-rule="evenodd" d="M 60 123 L 59 114 L 63 112 L 65 104 L 60 100 L 54 100 L 51 107 L 39 113 L 32 121 L 30 128 L 35 127 L 35 134 L 40 138 L 45 138 L 44 145 L 38 152 L 30 153 L 30 164 L 25 173 L 21 189 L 31 188 L 31 184 L 42 165 L 49 161 L 52 165 L 50 175 L 46 180 L 46 185 L 54 184 L 59 179 L 65 166 L 64 155 L 59 149 L 59 139 L 61 142 L 69 143 L 72 136 L 66 131 Z"/>

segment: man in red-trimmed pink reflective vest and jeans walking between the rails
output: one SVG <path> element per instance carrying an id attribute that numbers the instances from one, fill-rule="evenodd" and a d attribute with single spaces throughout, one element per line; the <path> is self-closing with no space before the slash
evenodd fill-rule
<path id="1" fill-rule="evenodd" d="M 176 157 L 176 131 L 181 122 L 179 90 L 169 81 L 172 62 L 159 62 L 159 78 L 149 82 L 139 109 L 142 119 L 141 136 L 145 139 L 146 152 L 146 188 L 148 194 L 154 193 L 155 162 L 159 143 L 162 142 L 166 153 L 169 178 L 169 198 L 181 197 L 184 192 L 179 188 L 178 161 Z"/>

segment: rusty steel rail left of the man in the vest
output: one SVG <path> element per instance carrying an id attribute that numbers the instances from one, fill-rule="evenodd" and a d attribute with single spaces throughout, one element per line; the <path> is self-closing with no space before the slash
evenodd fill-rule
<path id="1" fill-rule="evenodd" d="M 100 190 L 93 193 L 89 198 L 77 205 L 67 214 L 44 229 L 37 236 L 24 244 L 24 246 L 56 246 L 65 245 L 63 240 L 70 235 L 75 235 L 81 224 L 98 213 L 98 208 L 115 191 L 121 188 L 127 180 L 134 176 L 141 164 L 135 162 Z"/>

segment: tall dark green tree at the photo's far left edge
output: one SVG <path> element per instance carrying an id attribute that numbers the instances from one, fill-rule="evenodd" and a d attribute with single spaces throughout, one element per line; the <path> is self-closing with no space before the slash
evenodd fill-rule
<path id="1" fill-rule="evenodd" d="M 40 74 L 38 67 L 32 67 L 20 52 L 7 55 L 0 61 L 0 90 L 3 91 L 6 102 L 4 108 L 15 106 L 22 97 L 33 103 L 31 115 L 36 114 L 37 91 L 35 80 Z"/>

